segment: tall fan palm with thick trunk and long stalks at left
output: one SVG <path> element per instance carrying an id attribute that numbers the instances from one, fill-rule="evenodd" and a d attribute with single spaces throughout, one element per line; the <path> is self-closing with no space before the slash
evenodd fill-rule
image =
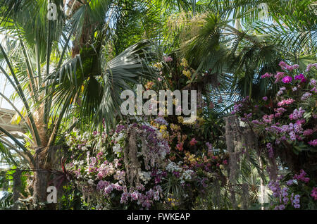
<path id="1" fill-rule="evenodd" d="M 54 2 L 63 6 L 61 1 Z M 129 83 L 141 77 L 155 74 L 145 64 L 151 60 L 147 54 L 149 41 L 130 46 L 112 60 L 106 59 L 108 23 L 112 19 L 106 19 L 106 15 L 111 4 L 111 1 L 89 1 L 77 8 L 67 21 L 63 7 L 58 11 L 58 20 L 46 20 L 46 1 L 26 0 L 17 4 L 2 1 L 0 4 L 1 32 L 8 38 L 11 49 L 6 51 L 0 45 L 5 63 L 0 69 L 15 90 L 15 97 L 22 100 L 23 108 L 16 108 L 8 97 L 3 94 L 2 97 L 18 113 L 18 120 L 25 124 L 30 137 L 21 134 L 23 143 L 3 127 L 0 131 L 16 144 L 10 144 L 11 148 L 17 147 L 15 151 L 28 161 L 30 170 L 35 171 L 35 202 L 46 200 L 49 180 L 46 171 L 58 167 L 57 158 L 53 156 L 57 148 L 53 146 L 62 126 L 74 127 L 66 116 L 74 111 L 75 105 L 80 104 L 82 118 L 102 117 L 109 127 L 116 118 L 113 114 L 120 103 L 121 89 L 129 88 Z M 85 16 L 98 22 L 89 32 L 85 30 L 87 25 L 82 24 Z M 87 39 L 82 37 L 83 32 L 89 35 Z M 73 49 L 68 53 L 72 37 L 75 37 Z M 77 39 L 81 42 L 77 43 Z M 72 58 L 76 44 L 79 54 Z M 7 146 L 8 141 L 1 139 Z M 4 158 L 11 158 L 8 148 L 2 151 Z"/>

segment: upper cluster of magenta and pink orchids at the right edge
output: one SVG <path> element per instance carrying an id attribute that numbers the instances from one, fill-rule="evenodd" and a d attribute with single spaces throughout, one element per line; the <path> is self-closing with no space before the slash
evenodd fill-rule
<path id="1" fill-rule="evenodd" d="M 255 105 L 249 97 L 233 107 L 232 114 L 250 123 L 257 132 L 265 133 L 268 155 L 273 157 L 277 149 L 293 149 L 295 153 L 317 146 L 316 126 L 316 70 L 307 66 L 309 73 L 298 73 L 298 65 L 290 66 L 281 61 L 283 72 L 276 73 L 275 85 L 282 85 L 275 97 L 263 97 Z M 271 78 L 268 73 L 262 79 Z M 310 149 L 311 148 L 311 149 Z"/>

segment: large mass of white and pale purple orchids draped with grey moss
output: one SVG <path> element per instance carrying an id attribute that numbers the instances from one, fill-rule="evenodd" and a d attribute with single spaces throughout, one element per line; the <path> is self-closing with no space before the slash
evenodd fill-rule
<path id="1" fill-rule="evenodd" d="M 175 199 L 181 204 L 192 192 L 201 193 L 212 180 L 212 173 L 228 164 L 225 158 L 213 154 L 200 157 L 187 153 L 182 160 L 173 161 L 170 142 L 180 136 L 183 144 L 186 139 L 180 135 L 180 127 L 163 117 L 135 121 L 117 125 L 108 133 L 66 135 L 71 151 L 67 168 L 87 204 L 95 209 L 155 209 L 170 204 L 173 195 L 163 190 L 170 182 L 187 192 Z M 197 144 L 194 138 L 190 142 Z"/>

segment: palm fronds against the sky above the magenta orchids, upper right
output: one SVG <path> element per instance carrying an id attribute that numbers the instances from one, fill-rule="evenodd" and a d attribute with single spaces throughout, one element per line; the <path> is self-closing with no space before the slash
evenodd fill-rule
<path id="1" fill-rule="evenodd" d="M 213 1 L 203 8 L 188 21 L 195 32 L 183 47 L 198 82 L 209 70 L 226 84 L 221 89 L 231 85 L 232 96 L 261 99 L 269 83 L 260 76 L 274 73 L 279 61 L 301 68 L 316 61 L 313 1 Z"/>

